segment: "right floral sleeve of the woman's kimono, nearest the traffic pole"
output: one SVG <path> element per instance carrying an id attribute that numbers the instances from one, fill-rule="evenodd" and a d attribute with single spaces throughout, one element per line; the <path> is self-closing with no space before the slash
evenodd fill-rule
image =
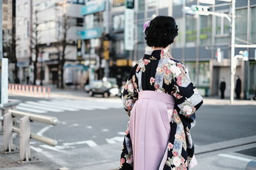
<path id="1" fill-rule="evenodd" d="M 186 127 L 191 129 L 195 125 L 195 111 L 203 103 L 202 96 L 189 78 L 188 69 L 180 62 L 171 61 L 173 73 L 173 89 L 171 95 L 175 97 L 176 110 L 180 118 L 186 121 Z"/>

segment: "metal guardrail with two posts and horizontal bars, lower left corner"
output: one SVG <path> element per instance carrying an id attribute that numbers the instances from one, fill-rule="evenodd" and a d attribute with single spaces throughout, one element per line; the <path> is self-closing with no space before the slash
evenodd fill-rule
<path id="1" fill-rule="evenodd" d="M 58 141 L 54 139 L 31 133 L 30 122 L 33 121 L 41 122 L 43 124 L 57 125 L 59 121 L 56 117 L 26 113 L 24 111 L 13 109 L 19 103 L 20 101 L 3 104 L 3 106 L 0 106 L 0 109 L 2 109 L 3 114 L 3 151 L 6 153 L 13 153 L 12 133 L 16 132 L 20 136 L 20 160 L 18 162 L 23 164 L 24 162 L 31 162 L 29 139 L 35 139 L 36 141 L 40 141 L 50 146 L 58 145 Z M 15 122 L 14 120 L 18 117 L 20 118 L 20 128 L 13 127 L 13 122 Z"/>

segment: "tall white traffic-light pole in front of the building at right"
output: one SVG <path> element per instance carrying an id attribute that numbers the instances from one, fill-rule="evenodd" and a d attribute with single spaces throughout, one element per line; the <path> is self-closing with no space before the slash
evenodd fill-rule
<path id="1" fill-rule="evenodd" d="M 232 25 L 231 25 L 231 56 L 230 56 L 230 104 L 234 103 L 234 76 L 235 67 L 235 26 L 236 26 L 236 0 L 232 0 Z"/>

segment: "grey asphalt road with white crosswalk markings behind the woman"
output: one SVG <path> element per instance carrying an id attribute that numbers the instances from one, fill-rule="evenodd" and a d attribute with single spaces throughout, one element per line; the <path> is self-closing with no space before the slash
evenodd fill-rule
<path id="1" fill-rule="evenodd" d="M 29 167 L 38 169 L 118 168 L 119 154 L 128 121 L 119 98 L 42 99 L 12 96 L 10 99 L 22 101 L 17 106 L 18 110 L 30 110 L 33 113 L 57 117 L 60 120 L 60 124 L 55 127 L 31 122 L 32 132 L 58 140 L 58 146 L 52 147 L 31 140 L 32 157 L 36 156 L 44 161 L 31 164 Z M 249 160 L 255 160 L 256 115 L 254 110 L 255 105 L 204 104 L 197 112 L 196 127 L 192 130 L 194 143 L 198 149 L 196 152 L 210 145 L 212 148 L 218 146 L 223 148 L 196 155 L 199 166 L 194 169 L 205 169 L 205 166 L 208 167 L 207 169 L 244 169 Z M 248 140 L 249 138 L 251 141 Z M 225 141 L 228 141 L 228 145 Z M 236 145 L 237 141 L 239 145 Z M 13 142 L 19 145 L 18 136 L 15 136 Z M 232 147 L 233 144 L 234 147 Z M 44 164 L 44 167 L 40 164 Z"/>

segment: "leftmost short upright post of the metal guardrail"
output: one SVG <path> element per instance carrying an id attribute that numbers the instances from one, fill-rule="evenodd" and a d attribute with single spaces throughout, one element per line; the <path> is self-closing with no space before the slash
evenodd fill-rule
<path id="1" fill-rule="evenodd" d="M 4 114 L 4 152 L 13 151 L 13 141 L 12 141 L 12 129 L 13 129 L 13 118 L 12 113 L 8 112 Z"/>

